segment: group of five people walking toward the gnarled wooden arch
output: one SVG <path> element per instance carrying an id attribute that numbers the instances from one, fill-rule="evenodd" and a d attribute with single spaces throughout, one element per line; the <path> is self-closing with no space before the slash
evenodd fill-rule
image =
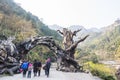
<path id="1" fill-rule="evenodd" d="M 48 58 L 45 62 L 45 65 L 43 66 L 43 69 L 45 70 L 45 75 L 49 77 L 49 70 L 51 66 L 51 60 Z M 23 77 L 31 78 L 32 70 L 35 76 L 40 76 L 41 73 L 41 68 L 42 68 L 42 63 L 41 61 L 37 61 L 36 59 L 34 60 L 33 63 L 28 62 L 27 60 L 24 60 L 20 66 L 20 71 L 23 73 Z"/>

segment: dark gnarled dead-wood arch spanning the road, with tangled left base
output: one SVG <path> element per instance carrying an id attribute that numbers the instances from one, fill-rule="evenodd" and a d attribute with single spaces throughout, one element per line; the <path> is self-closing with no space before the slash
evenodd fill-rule
<path id="1" fill-rule="evenodd" d="M 28 54 L 28 52 L 33 49 L 37 45 L 47 46 L 50 50 L 55 52 L 57 57 L 62 59 L 62 63 L 64 66 L 73 65 L 74 68 L 79 71 L 79 64 L 70 56 L 68 56 L 68 52 L 72 49 L 75 49 L 79 42 L 85 40 L 87 38 L 75 42 L 66 50 L 63 50 L 59 47 L 52 37 L 41 37 L 36 36 L 27 41 L 19 43 L 19 45 L 15 45 L 11 39 L 1 40 L 0 41 L 0 73 L 10 73 L 13 75 L 20 67 L 20 60 Z M 61 65 L 60 65 L 61 66 Z"/>

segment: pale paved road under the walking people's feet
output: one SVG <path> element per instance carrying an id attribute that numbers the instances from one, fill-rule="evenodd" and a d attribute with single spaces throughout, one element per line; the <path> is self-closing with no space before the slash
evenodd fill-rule
<path id="1" fill-rule="evenodd" d="M 71 73 L 56 71 L 55 68 L 50 70 L 50 76 L 47 78 L 44 74 L 44 70 L 41 70 L 40 77 L 23 78 L 22 74 L 14 76 L 1 77 L 0 80 L 96 80 L 91 74 L 86 73 Z"/>

